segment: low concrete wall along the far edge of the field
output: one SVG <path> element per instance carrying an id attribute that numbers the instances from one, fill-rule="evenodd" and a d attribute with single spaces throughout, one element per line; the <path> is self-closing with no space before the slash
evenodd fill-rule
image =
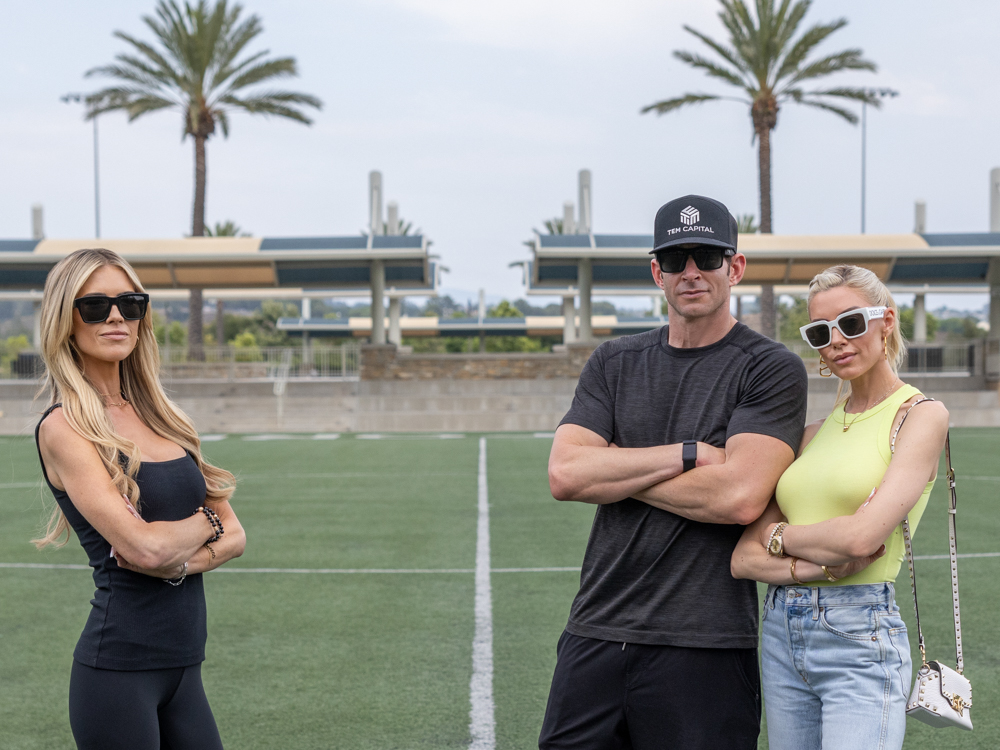
<path id="1" fill-rule="evenodd" d="M 1000 427 L 995 390 L 968 390 L 966 379 L 908 378 L 943 401 L 955 426 Z M 836 382 L 809 379 L 809 420 L 830 413 Z M 506 380 L 188 381 L 171 398 L 203 433 L 549 431 L 569 409 L 575 378 Z M 30 435 L 44 402 L 33 383 L 0 382 L 0 434 Z"/>

